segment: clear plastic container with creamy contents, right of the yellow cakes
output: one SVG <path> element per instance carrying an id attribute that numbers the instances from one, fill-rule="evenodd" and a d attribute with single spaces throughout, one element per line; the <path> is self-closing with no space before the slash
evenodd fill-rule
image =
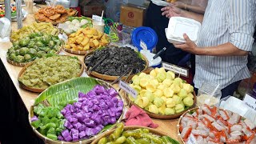
<path id="1" fill-rule="evenodd" d="M 198 90 L 197 105 L 202 106 L 206 104 L 209 106 L 217 106 L 221 97 L 222 92 L 219 84 L 214 82 L 203 82 Z"/>

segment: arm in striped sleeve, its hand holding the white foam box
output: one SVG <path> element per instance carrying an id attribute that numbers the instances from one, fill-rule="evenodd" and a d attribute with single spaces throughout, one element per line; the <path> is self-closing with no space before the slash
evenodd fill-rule
<path id="1" fill-rule="evenodd" d="M 227 8 L 230 11 L 227 11 L 227 25 L 229 26 L 230 42 L 219 46 L 198 47 L 184 34 L 186 43 L 174 46 L 198 55 L 242 56 L 248 54 L 254 42 L 255 2 L 254 0 L 248 0 L 242 4 L 239 3 L 241 2 L 239 0 L 229 2 L 230 5 Z M 248 12 L 245 13 L 243 10 Z"/>

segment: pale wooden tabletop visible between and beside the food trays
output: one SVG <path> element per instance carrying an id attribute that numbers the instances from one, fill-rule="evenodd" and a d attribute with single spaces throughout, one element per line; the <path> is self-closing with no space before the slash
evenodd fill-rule
<path id="1" fill-rule="evenodd" d="M 37 8 L 34 7 L 34 11 L 36 10 Z M 32 22 L 34 22 L 34 16 L 33 14 L 28 14 L 27 18 L 23 21 L 23 26 L 26 26 Z M 17 30 L 16 22 L 12 22 L 12 30 Z M 18 90 L 18 94 L 22 98 L 22 102 L 24 102 L 26 109 L 29 110 L 30 106 L 33 105 L 34 99 L 38 96 L 38 94 L 32 93 L 27 90 L 23 90 L 19 87 L 18 73 L 20 72 L 20 70 L 22 70 L 22 67 L 13 66 L 6 61 L 6 52 L 11 46 L 12 46 L 11 42 L 0 42 L 0 58 L 2 60 L 3 65 L 6 67 L 6 71 L 8 72 L 12 82 L 14 83 L 14 86 Z M 65 54 L 68 54 L 68 53 L 65 53 Z M 68 55 L 74 55 L 74 54 L 68 54 Z M 78 56 L 78 58 L 82 60 L 83 56 Z M 178 119 L 174 119 L 174 120 L 153 119 L 153 122 L 159 125 L 157 130 L 161 130 L 162 132 L 165 132 L 166 134 L 168 134 L 171 138 L 179 140 L 178 134 L 177 134 Z"/>

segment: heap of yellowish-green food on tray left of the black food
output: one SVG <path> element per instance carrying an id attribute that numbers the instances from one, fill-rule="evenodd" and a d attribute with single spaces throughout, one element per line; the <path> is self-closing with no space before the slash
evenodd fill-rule
<path id="1" fill-rule="evenodd" d="M 81 65 L 78 58 L 70 56 L 40 58 L 26 68 L 18 81 L 25 86 L 46 89 L 58 82 L 78 77 Z"/>

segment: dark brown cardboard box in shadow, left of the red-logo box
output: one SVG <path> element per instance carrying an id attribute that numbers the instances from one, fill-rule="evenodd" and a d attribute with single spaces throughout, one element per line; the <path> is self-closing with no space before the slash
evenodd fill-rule
<path id="1" fill-rule="evenodd" d="M 102 10 L 105 10 L 104 3 L 101 0 L 93 0 L 80 6 L 82 15 L 86 17 L 91 17 L 93 14 L 102 15 Z"/>

